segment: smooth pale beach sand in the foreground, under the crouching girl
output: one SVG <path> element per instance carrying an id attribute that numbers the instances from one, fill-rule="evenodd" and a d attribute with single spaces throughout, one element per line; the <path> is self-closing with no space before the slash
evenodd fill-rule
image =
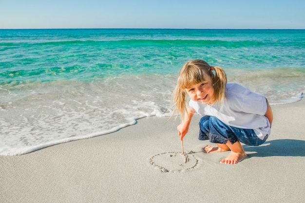
<path id="1" fill-rule="evenodd" d="M 220 164 L 205 154 L 199 116 L 184 138 L 179 119 L 147 117 L 95 138 L 0 156 L 0 203 L 304 203 L 305 100 L 272 106 L 266 144 Z"/>

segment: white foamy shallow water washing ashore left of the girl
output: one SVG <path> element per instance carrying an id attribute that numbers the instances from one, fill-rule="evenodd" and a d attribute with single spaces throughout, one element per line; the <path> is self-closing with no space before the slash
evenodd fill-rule
<path id="1" fill-rule="evenodd" d="M 147 116 L 168 116 L 171 91 L 149 77 L 108 78 L 99 82 L 33 83 L 21 89 L 36 93 L 1 101 L 0 155 L 24 154 L 39 148 L 107 134 Z M 161 80 L 161 78 L 159 79 Z M 159 83 L 159 84 L 162 84 Z M 30 87 L 31 86 L 31 87 Z M 16 88 L 15 88 L 16 89 Z M 160 102 L 159 102 L 160 101 Z"/>

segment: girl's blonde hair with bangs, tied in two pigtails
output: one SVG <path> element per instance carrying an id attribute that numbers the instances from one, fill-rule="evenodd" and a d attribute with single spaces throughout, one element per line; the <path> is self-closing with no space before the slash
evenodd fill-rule
<path id="1" fill-rule="evenodd" d="M 215 71 L 215 74 L 213 71 Z M 213 100 L 220 102 L 220 105 L 223 106 L 227 85 L 225 71 L 220 67 L 211 67 L 204 60 L 190 60 L 179 71 L 177 85 L 173 92 L 174 110 L 172 115 L 179 112 L 181 118 L 184 119 L 188 105 L 186 89 L 191 85 L 207 81 L 209 77 L 214 88 Z"/>

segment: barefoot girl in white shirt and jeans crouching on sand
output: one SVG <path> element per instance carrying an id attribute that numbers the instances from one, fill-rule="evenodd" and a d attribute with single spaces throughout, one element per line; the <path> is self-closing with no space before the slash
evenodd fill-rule
<path id="1" fill-rule="evenodd" d="M 173 114 L 179 112 L 182 117 L 177 127 L 180 140 L 187 134 L 193 114 L 199 113 L 203 116 L 199 140 L 210 139 L 217 145 L 206 146 L 203 151 L 231 151 L 220 163 L 236 164 L 247 158 L 241 143 L 259 146 L 271 131 L 273 115 L 268 100 L 241 85 L 227 84 L 224 70 L 203 60 L 183 65 L 174 90 L 174 103 Z"/>

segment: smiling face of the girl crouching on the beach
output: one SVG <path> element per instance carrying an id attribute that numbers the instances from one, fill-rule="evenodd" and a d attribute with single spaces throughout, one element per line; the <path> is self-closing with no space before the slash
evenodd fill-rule
<path id="1" fill-rule="evenodd" d="M 191 85 L 186 91 L 193 101 L 208 105 L 215 102 L 213 99 L 214 87 L 210 78 L 205 82 Z"/>

